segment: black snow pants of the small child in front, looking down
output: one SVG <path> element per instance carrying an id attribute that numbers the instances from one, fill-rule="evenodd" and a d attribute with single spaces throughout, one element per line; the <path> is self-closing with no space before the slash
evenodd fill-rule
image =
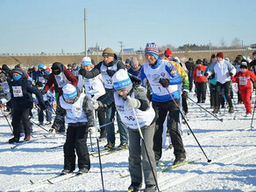
<path id="1" fill-rule="evenodd" d="M 90 168 L 87 147 L 88 127 L 70 127 L 64 144 L 64 169 L 75 170 L 75 152 L 78 156 L 78 168 Z"/>

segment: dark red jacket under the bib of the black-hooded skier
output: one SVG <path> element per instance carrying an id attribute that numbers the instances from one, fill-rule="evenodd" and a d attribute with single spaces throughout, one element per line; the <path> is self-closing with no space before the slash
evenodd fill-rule
<path id="1" fill-rule="evenodd" d="M 78 80 L 75 78 L 75 75 L 72 72 L 70 72 L 64 65 L 62 65 L 62 70 L 64 71 L 64 74 L 65 74 L 66 78 L 70 81 L 70 83 L 73 86 L 77 86 Z M 50 77 L 49 77 L 44 89 L 46 91 L 48 91 L 50 89 L 50 87 L 53 86 L 53 84 L 54 84 L 54 86 L 58 86 L 57 81 L 55 79 L 55 76 L 52 72 L 50 74 Z M 62 95 L 62 88 L 61 87 L 58 87 L 58 92 L 59 92 L 59 97 L 60 97 L 60 95 Z"/>

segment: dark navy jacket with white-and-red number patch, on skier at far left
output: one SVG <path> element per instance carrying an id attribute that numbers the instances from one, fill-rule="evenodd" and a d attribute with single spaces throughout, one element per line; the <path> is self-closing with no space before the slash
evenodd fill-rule
<path id="1" fill-rule="evenodd" d="M 32 85 L 32 81 L 26 79 L 25 74 L 18 80 L 11 80 L 10 82 L 11 103 L 14 110 L 23 110 L 33 107 L 32 93 L 38 99 L 40 105 L 45 105 L 42 94 L 38 87 Z"/>

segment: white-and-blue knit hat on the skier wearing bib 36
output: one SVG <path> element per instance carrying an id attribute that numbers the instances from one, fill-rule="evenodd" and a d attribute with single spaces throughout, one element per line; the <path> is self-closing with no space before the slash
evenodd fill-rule
<path id="1" fill-rule="evenodd" d="M 112 77 L 115 90 L 123 89 L 126 86 L 132 86 L 132 81 L 128 76 L 127 71 L 119 69 Z"/>

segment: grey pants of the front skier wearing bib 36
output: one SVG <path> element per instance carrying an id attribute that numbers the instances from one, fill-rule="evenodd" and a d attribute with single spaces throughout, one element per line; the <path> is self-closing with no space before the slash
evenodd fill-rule
<path id="1" fill-rule="evenodd" d="M 155 184 L 153 174 L 156 176 L 156 163 L 153 153 L 153 134 L 155 122 L 150 126 L 141 127 L 144 142 L 141 140 L 138 129 L 128 128 L 129 133 L 129 171 L 132 182 L 142 182 L 144 175 L 145 184 Z M 146 147 L 146 148 L 145 148 Z M 146 150 L 148 156 L 146 154 Z M 153 171 L 151 165 L 153 166 Z M 142 174 L 143 173 L 143 174 Z"/>

